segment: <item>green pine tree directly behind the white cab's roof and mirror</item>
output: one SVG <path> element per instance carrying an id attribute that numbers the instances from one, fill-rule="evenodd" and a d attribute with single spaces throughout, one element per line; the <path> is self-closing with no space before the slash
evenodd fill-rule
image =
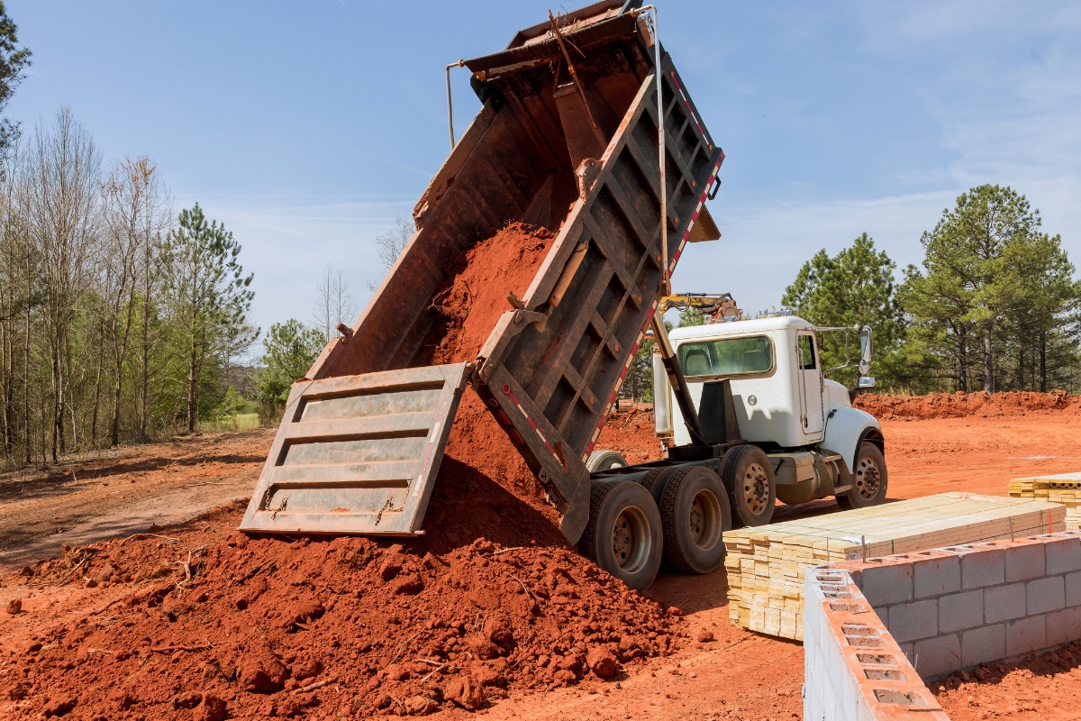
<path id="1" fill-rule="evenodd" d="M 875 241 L 865 232 L 852 245 L 830 257 L 818 251 L 803 264 L 796 280 L 785 289 L 782 306 L 815 325 L 869 325 L 872 329 L 876 365 L 872 375 L 880 384 L 899 385 L 908 380 L 906 365 L 897 353 L 906 337 L 904 313 L 894 293 L 896 264 L 885 251 L 876 251 Z M 844 334 L 818 335 L 824 369 L 842 365 L 845 359 Z M 857 334 L 850 331 L 850 358 L 853 368 L 838 371 L 833 379 L 848 387 L 855 385 L 854 368 L 859 346 Z"/>

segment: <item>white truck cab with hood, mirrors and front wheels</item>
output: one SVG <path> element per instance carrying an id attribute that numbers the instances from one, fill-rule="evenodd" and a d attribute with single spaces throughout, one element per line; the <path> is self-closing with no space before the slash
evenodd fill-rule
<path id="1" fill-rule="evenodd" d="M 699 416 L 711 413 L 703 406 L 704 397 L 707 403 L 722 398 L 705 389 L 726 382 L 739 436 L 769 458 L 770 468 L 759 463 L 749 471 L 757 478 L 745 479 L 743 489 L 730 490 L 736 496 L 733 510 L 744 511 L 734 516 L 743 516 L 744 522 L 758 524 L 772 517 L 774 493 L 769 486 L 775 486 L 775 497 L 786 504 L 833 495 L 842 508 L 852 508 L 885 499 L 881 427 L 869 413 L 852 408 L 849 390 L 824 375 L 818 356 L 818 334 L 849 330 L 773 316 L 680 328 L 668 334 Z M 870 366 L 870 329 L 859 331 L 863 374 Z M 659 355 L 653 364 L 656 432 L 667 455 L 673 446 L 689 445 L 692 438 Z M 871 385 L 872 378 L 860 378 L 860 387 Z"/>

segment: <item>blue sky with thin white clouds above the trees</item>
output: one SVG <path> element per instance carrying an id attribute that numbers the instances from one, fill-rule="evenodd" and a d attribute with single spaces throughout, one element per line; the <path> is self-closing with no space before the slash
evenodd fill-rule
<path id="1" fill-rule="evenodd" d="M 565 3 L 576 8 L 578 3 Z M 177 208 L 243 244 L 264 329 L 307 318 L 332 263 L 361 307 L 372 239 L 448 152 L 442 68 L 557 5 L 8 0 L 34 66 L 8 107 L 62 105 L 106 159 L 147 153 Z M 868 232 L 898 266 L 957 195 L 1013 186 L 1081 263 L 1081 4 L 659 0 L 662 40 L 728 156 L 677 289 L 776 305 L 818 249 Z M 455 75 L 455 126 L 478 109 Z M 898 273 L 899 275 L 899 273 Z"/>

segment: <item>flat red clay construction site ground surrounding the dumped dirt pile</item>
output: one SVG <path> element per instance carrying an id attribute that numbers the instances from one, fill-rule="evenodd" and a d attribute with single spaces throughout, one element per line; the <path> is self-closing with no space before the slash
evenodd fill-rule
<path id="1" fill-rule="evenodd" d="M 883 416 L 882 429 L 886 438 L 890 498 L 944 491 L 1004 495 L 1011 478 L 1081 469 L 1078 405 L 1056 402 L 1054 405 L 1064 406 L 1057 410 L 1039 405 L 1023 403 L 1005 411 L 970 409 L 970 415 L 947 417 L 916 417 L 921 414 L 911 409 L 904 415 L 899 412 L 905 409 L 899 406 L 894 412 L 878 409 Z M 956 404 L 951 408 L 956 410 Z M 0 476 L 0 609 L 14 599 L 22 603 L 21 613 L 0 612 L 0 717 L 18 718 L 19 712 L 29 717 L 31 710 L 32 716 L 41 711 L 40 705 L 32 709 L 26 707 L 25 702 L 19 705 L 15 700 L 19 694 L 14 692 L 18 689 L 24 690 L 22 696 L 26 696 L 26 692 L 31 696 L 37 693 L 48 697 L 49 703 L 57 698 L 57 703 L 63 703 L 61 697 L 65 693 L 78 695 L 79 689 L 34 685 L 36 678 L 42 681 L 51 678 L 53 686 L 57 685 L 57 678 L 65 678 L 43 675 L 43 669 L 35 666 L 32 657 L 37 651 L 30 651 L 35 639 L 48 626 L 63 623 L 77 627 L 80 619 L 132 593 L 131 579 L 120 584 L 116 583 L 116 576 L 112 576 L 114 583 L 75 583 L 67 577 L 30 588 L 17 571 L 35 565 L 42 558 L 61 557 L 65 544 L 70 547 L 148 531 L 184 538 L 201 534 L 208 539 L 200 542 L 203 544 L 231 537 L 271 438 L 272 432 L 267 430 L 204 435 L 124 448 L 101 457 L 63 463 L 45 472 Z M 656 457 L 652 415 L 644 409 L 637 409 L 613 418 L 600 446 L 620 450 L 632 463 Z M 215 507 L 222 508 L 215 513 L 206 513 Z M 779 507 L 776 519 L 835 510 L 835 502 L 819 500 L 798 507 Z M 198 520 L 192 522 L 192 519 Z M 184 525 L 165 530 L 173 524 Z M 139 536 L 137 540 L 152 543 L 154 537 Z M 486 561 L 481 563 L 488 565 Z M 524 577 L 524 571 L 520 573 Z M 522 588 L 525 590 L 525 584 Z M 587 676 L 564 687 L 519 689 L 510 684 L 508 691 L 490 695 L 494 703 L 477 712 L 496 719 L 764 720 L 801 716 L 802 646 L 733 627 L 728 617 L 723 569 L 700 577 L 662 573 L 646 595 L 656 600 L 660 609 L 667 610 L 664 619 L 650 623 L 670 624 L 655 628 L 662 637 L 670 633 L 679 640 L 667 646 L 666 652 L 646 654 L 644 658 L 625 664 L 610 679 Z M 331 606 L 328 613 L 330 611 Z M 181 646 L 195 647 L 197 641 L 202 642 L 212 632 L 206 629 L 198 639 L 171 642 L 173 645 L 165 650 L 177 649 L 173 651 L 172 662 L 183 663 Z M 136 650 L 107 647 L 109 638 L 106 633 L 95 641 L 102 646 L 97 650 L 99 653 L 137 653 Z M 92 656 L 95 649 L 84 645 L 79 653 L 82 656 L 72 665 L 85 660 L 88 654 Z M 148 657 L 152 656 L 151 653 Z M 160 662 L 168 664 L 168 654 Z M 1077 699 L 1077 694 L 1081 693 L 1079 662 L 1081 656 L 1062 654 L 1050 660 L 991 665 L 992 668 L 979 675 L 983 679 L 951 677 L 947 682 L 932 684 L 932 690 L 956 719 L 1000 715 L 1022 719 L 1077 718 L 1078 712 L 1070 709 L 1071 704 L 1081 704 Z M 179 665 L 174 666 L 177 672 L 179 668 Z M 539 676 L 539 670 L 537 673 Z M 326 669 L 322 677 L 311 677 L 326 683 L 318 691 L 309 690 L 312 696 L 318 694 L 319 699 L 318 703 L 312 700 L 301 716 L 336 719 L 360 718 L 368 713 L 363 710 L 366 707 L 352 703 L 356 690 L 332 675 L 333 669 Z M 96 676 L 90 678 L 97 679 Z M 102 677 L 97 682 L 106 680 Z M 85 683 L 85 677 L 80 683 Z M 176 685 L 182 684 L 177 681 Z M 988 689 L 976 687 L 982 685 Z M 238 698 L 253 695 L 239 690 L 232 693 Z M 259 716 L 252 710 L 255 709 L 252 705 L 244 706 L 228 695 L 224 695 L 224 699 L 231 716 Z M 123 699 L 117 703 L 124 710 L 129 708 Z M 171 707 L 157 708 L 168 708 L 169 718 L 214 718 L 206 715 L 205 704 L 189 711 L 190 706 L 182 696 L 176 696 L 172 703 Z M 132 712 L 138 708 L 136 704 Z M 279 705 L 277 712 L 281 713 L 281 708 Z M 395 710 L 393 705 L 387 710 Z M 473 715 L 450 703 L 433 710 L 437 718 Z M 144 711 L 144 718 L 155 716 L 155 712 Z M 111 716 L 101 706 L 77 705 L 70 718 L 121 717 Z M 122 718 L 139 717 L 125 715 Z"/>

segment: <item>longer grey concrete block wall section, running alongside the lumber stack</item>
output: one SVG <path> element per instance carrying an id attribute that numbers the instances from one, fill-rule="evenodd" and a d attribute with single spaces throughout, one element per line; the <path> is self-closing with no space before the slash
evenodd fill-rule
<path id="1" fill-rule="evenodd" d="M 924 679 L 1081 639 L 1081 531 L 833 568 Z"/>

